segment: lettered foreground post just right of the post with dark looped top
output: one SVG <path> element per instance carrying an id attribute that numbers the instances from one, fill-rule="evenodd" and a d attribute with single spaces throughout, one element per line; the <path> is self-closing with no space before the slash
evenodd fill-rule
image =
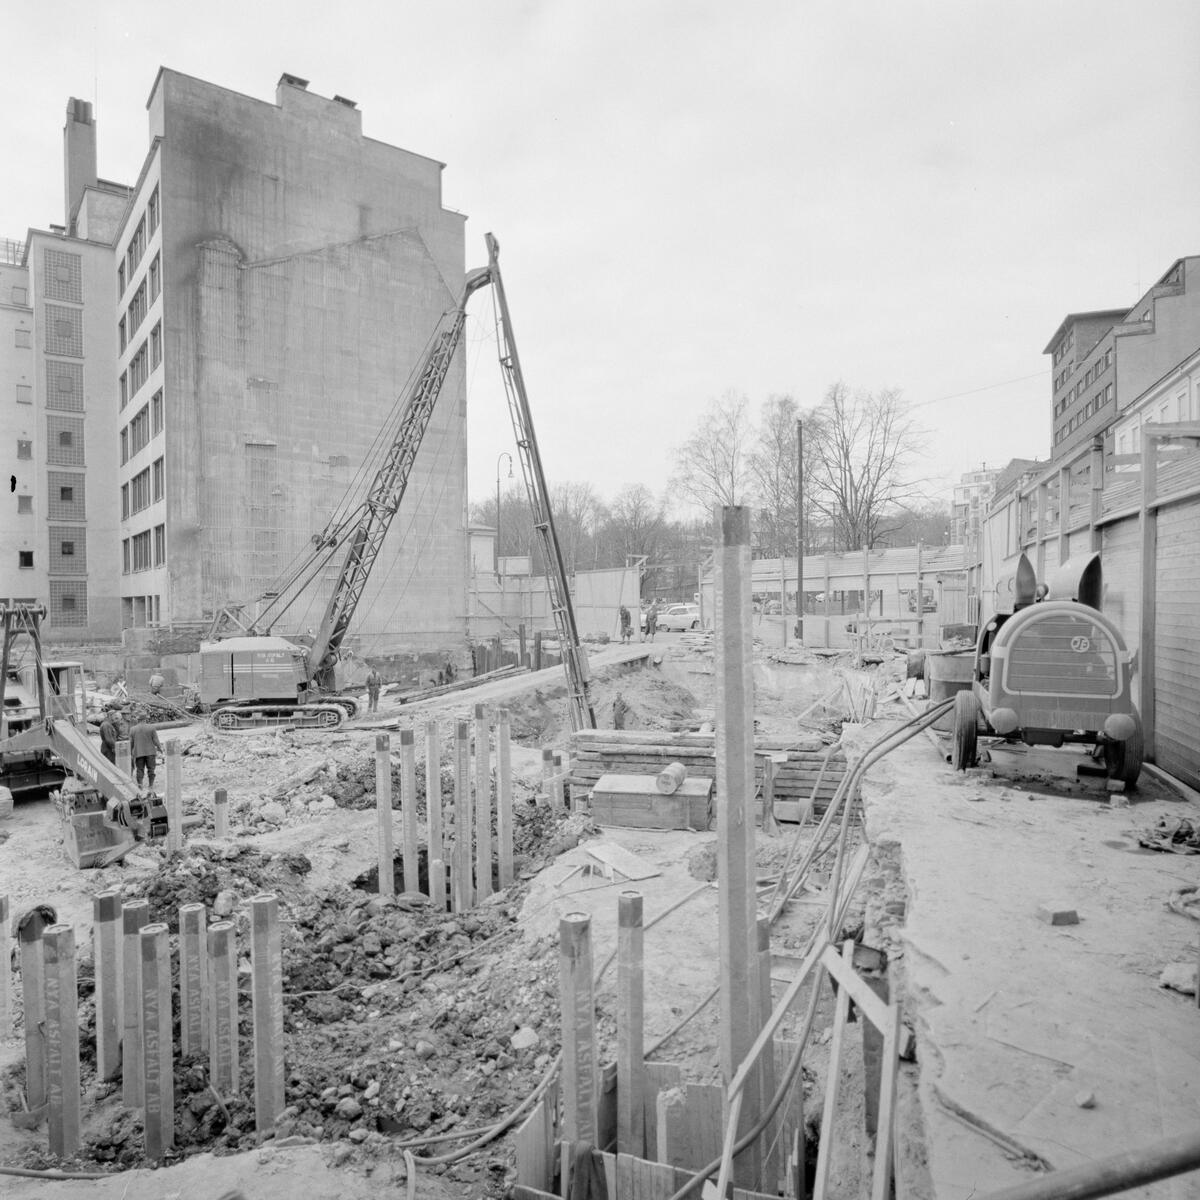
<path id="1" fill-rule="evenodd" d="M 74 929 L 50 925 L 42 935 L 42 950 L 50 1153 L 70 1158 L 79 1148 L 79 994 Z"/>

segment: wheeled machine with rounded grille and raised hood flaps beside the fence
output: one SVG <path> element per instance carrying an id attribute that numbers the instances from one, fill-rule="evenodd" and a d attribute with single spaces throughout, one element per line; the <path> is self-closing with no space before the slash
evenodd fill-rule
<path id="1" fill-rule="evenodd" d="M 1025 554 L 979 630 L 968 688 L 954 697 L 950 761 L 976 764 L 978 738 L 1093 746 L 1110 779 L 1138 782 L 1144 744 L 1133 702 L 1134 655 L 1100 612 L 1100 556 L 1063 563 L 1039 584 Z"/>

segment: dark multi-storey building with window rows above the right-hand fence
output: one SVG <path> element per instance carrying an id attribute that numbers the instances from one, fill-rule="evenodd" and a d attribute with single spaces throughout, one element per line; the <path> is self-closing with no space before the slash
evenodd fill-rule
<path id="1" fill-rule="evenodd" d="M 1110 428 L 1156 379 L 1195 348 L 1200 258 L 1181 258 L 1132 308 L 1069 313 L 1044 353 L 1054 365 L 1052 455 Z"/>

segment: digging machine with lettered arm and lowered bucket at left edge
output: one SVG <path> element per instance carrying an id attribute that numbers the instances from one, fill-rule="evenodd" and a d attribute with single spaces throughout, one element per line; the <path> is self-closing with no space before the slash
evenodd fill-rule
<path id="1" fill-rule="evenodd" d="M 0 784 L 13 793 L 58 785 L 55 804 L 62 818 L 62 844 L 76 866 L 108 866 L 137 841 L 167 833 L 167 809 L 154 792 L 142 792 L 110 763 L 88 737 L 76 708 L 74 664 L 55 664 L 50 673 L 42 655 L 41 622 L 46 608 L 14 605 L 0 610 Z M 20 670 L 13 650 L 20 638 L 32 652 Z M 25 685 L 14 684 L 19 676 Z M 31 684 L 31 688 L 29 685 Z M 36 691 L 34 698 L 29 691 Z M 12 700 L 17 704 L 11 703 Z"/>

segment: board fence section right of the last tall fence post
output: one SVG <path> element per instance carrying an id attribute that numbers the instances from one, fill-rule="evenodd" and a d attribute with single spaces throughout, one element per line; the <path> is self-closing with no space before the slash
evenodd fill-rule
<path id="1" fill-rule="evenodd" d="M 1156 587 L 1154 761 L 1200 787 L 1200 500 L 1159 509 Z"/>

